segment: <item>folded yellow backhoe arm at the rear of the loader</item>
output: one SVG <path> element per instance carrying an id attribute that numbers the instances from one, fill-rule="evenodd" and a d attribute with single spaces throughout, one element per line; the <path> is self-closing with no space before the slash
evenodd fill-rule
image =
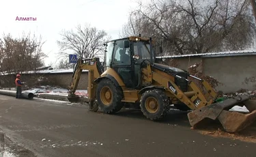
<path id="1" fill-rule="evenodd" d="M 74 72 L 72 75 L 72 80 L 70 82 L 70 86 L 67 87 L 68 100 L 70 102 L 79 101 L 79 96 L 77 96 L 75 92 L 79 85 L 79 81 L 80 81 L 83 70 L 88 70 L 88 79 L 87 79 L 88 80 L 88 87 L 87 87 L 88 98 L 86 102 L 93 104 L 95 100 L 95 89 L 96 89 L 96 83 L 94 83 L 94 80 L 100 77 L 100 74 L 102 74 L 103 72 L 103 68 L 100 65 L 100 60 L 98 57 L 89 58 L 89 59 L 79 59 L 77 61 L 76 67 L 74 68 Z"/>

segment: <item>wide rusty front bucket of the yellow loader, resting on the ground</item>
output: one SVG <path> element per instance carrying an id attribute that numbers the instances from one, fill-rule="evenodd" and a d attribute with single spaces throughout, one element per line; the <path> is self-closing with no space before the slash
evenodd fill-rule
<path id="1" fill-rule="evenodd" d="M 229 111 L 229 109 L 236 105 L 246 106 L 249 113 Z M 249 100 L 248 96 L 238 96 L 203 106 L 188 113 L 188 120 L 192 128 L 201 127 L 201 124 L 205 124 L 208 119 L 218 119 L 227 132 L 240 132 L 255 122 L 256 101 Z"/>

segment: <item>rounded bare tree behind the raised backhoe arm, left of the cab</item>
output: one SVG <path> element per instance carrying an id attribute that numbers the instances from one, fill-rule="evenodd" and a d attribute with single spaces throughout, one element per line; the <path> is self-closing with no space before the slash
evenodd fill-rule
<path id="1" fill-rule="evenodd" d="M 75 31 L 63 31 L 61 40 L 57 41 L 61 55 L 67 57 L 71 52 L 81 58 L 102 57 L 104 42 L 109 40 L 104 30 L 98 30 L 86 24 L 78 25 Z M 65 51 L 68 51 L 65 52 Z"/>

